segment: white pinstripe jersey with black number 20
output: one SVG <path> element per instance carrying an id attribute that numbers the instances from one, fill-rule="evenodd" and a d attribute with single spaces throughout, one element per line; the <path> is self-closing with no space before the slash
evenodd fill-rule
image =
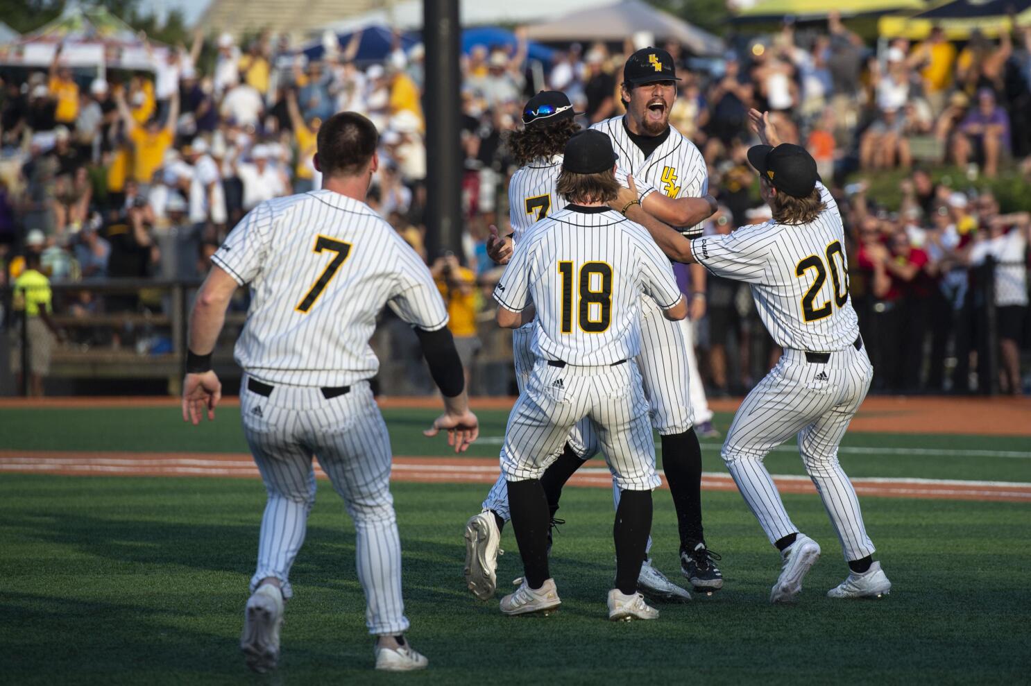
<path id="1" fill-rule="evenodd" d="M 691 241 L 691 253 L 718 276 L 752 284 L 759 316 L 777 345 L 833 352 L 852 345 L 859 320 L 849 297 L 849 258 L 837 203 L 822 183 L 827 209 L 813 221 L 772 219 Z"/>

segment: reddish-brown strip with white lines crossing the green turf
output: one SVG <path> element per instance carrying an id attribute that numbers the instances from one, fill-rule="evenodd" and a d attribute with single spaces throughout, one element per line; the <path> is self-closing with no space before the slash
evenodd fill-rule
<path id="1" fill-rule="evenodd" d="M 0 450 L 0 473 L 63 474 L 72 476 L 179 476 L 258 478 L 258 469 L 246 453 L 204 452 L 77 452 Z M 315 475 L 326 475 L 318 467 Z M 420 483 L 494 483 L 498 460 L 491 458 L 394 457 L 394 481 Z M 816 493 L 805 477 L 774 475 L 781 492 Z M 587 467 L 573 475 L 574 486 L 611 488 L 604 468 Z M 956 481 L 946 479 L 853 479 L 860 495 L 921 498 L 959 501 L 1031 503 L 1031 483 Z M 665 479 L 663 488 L 666 488 Z M 735 490 L 727 474 L 705 472 L 702 488 Z"/>

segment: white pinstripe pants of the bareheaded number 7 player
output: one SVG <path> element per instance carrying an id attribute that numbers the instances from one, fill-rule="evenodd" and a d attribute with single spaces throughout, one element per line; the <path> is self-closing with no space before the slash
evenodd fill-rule
<path id="1" fill-rule="evenodd" d="M 408 628 L 401 599 L 401 541 L 390 493 L 387 424 L 367 381 L 326 400 L 320 388 L 276 384 L 265 398 L 240 388 L 243 433 L 261 471 L 268 502 L 261 522 L 258 569 L 251 590 L 274 577 L 293 595 L 290 568 L 304 543 L 315 501 L 311 456 L 319 459 L 355 522 L 358 579 L 369 633 Z"/>

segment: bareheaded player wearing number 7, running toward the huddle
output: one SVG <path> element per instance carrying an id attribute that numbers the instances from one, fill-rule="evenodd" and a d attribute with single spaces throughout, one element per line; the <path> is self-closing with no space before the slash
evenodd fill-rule
<path id="1" fill-rule="evenodd" d="M 196 424 L 205 408 L 214 418 L 222 395 L 211 350 L 226 307 L 237 286 L 251 286 L 235 358 L 244 371 L 244 435 L 268 491 L 240 640 L 257 672 L 278 659 L 284 601 L 293 595 L 290 569 L 314 503 L 312 455 L 355 521 L 376 668 L 427 665 L 403 636 L 408 620 L 389 488 L 390 438 L 368 382 L 379 366 L 368 341 L 385 304 L 414 328 L 444 397 L 444 413 L 425 434 L 446 430 L 458 451 L 478 427 L 429 270 L 364 203 L 378 166 L 377 140 L 375 127 L 360 114 L 328 119 L 314 159 L 322 188 L 266 201 L 250 212 L 212 255 L 191 314 L 182 418 Z"/>

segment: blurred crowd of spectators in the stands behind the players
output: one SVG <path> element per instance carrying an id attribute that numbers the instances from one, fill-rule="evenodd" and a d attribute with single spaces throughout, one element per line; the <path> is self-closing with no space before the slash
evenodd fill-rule
<path id="1" fill-rule="evenodd" d="M 622 64 L 633 46 L 573 44 L 545 65 L 517 46 L 473 47 L 462 60 L 462 253 L 427 254 L 427 132 L 421 44 L 398 40 L 383 61 L 355 61 L 361 34 L 327 41 L 308 60 L 285 38 L 238 45 L 219 36 L 202 60 L 203 38 L 154 57 L 154 71 L 73 74 L 58 53 L 48 73 L 5 72 L 0 98 L 0 278 L 39 256 L 52 281 L 111 277 L 197 279 L 226 233 L 268 198 L 319 187 L 312 165 L 320 123 L 332 113 L 367 115 L 381 133 L 380 167 L 369 204 L 427 260 L 452 313 L 463 357 L 480 367 L 504 338 L 487 340 L 489 298 L 498 270 L 486 253 L 488 227 L 507 221 L 514 171 L 506 132 L 535 90 L 567 93 L 585 126 L 622 113 Z M 745 151 L 750 107 L 768 109 L 781 138 L 800 142 L 839 198 L 852 240 L 852 294 L 882 391 L 965 392 L 985 387 L 986 293 L 974 275 L 994 271 L 1001 387 L 1021 392 L 1027 337 L 1026 213 L 1000 211 L 983 182 L 1031 173 L 1031 27 L 963 44 L 934 30 L 924 41 L 894 40 L 875 50 L 836 16 L 818 28 L 786 24 L 773 35 L 739 40 L 723 59 L 698 61 L 666 44 L 677 62 L 678 99 L 670 123 L 709 165 L 720 212 L 707 231 L 726 233 L 768 218 Z M 929 170 L 956 165 L 950 182 Z M 865 171 L 908 170 L 900 205 L 868 197 Z M 893 172 L 902 173 L 902 172 Z M 22 261 L 22 262 L 20 262 Z M 698 322 L 707 387 L 751 387 L 776 354 L 747 289 L 709 278 Z M 160 310 L 161 298 L 91 298 L 65 303 L 85 312 Z M 390 322 L 388 332 L 400 332 Z M 479 335 L 477 335 L 479 332 Z M 395 338 L 403 338 L 398 333 Z M 484 340 L 480 340 L 480 339 Z M 118 339 L 113 340 L 118 344 Z M 411 354 L 393 341 L 391 358 Z M 497 354 L 496 354 L 497 353 Z M 979 353 L 979 356 L 978 356 Z M 473 366 L 475 368 L 475 366 Z M 505 368 L 501 365 L 501 368 Z M 486 369 L 486 368 L 484 368 Z M 405 373 L 409 380 L 417 374 Z M 484 392 L 507 392 L 488 383 Z M 414 381 L 412 381 L 414 383 Z"/>

